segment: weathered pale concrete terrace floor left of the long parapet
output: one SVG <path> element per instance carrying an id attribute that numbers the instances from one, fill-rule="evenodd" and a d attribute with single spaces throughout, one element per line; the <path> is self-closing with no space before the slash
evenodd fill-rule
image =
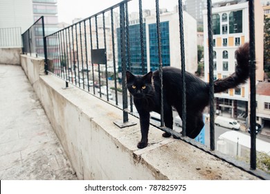
<path id="1" fill-rule="evenodd" d="M 0 64 L 0 179 L 77 179 L 19 66 Z"/>

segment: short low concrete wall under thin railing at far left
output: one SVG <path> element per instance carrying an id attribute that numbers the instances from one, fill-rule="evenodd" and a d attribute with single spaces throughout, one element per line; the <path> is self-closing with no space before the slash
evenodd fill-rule
<path id="1" fill-rule="evenodd" d="M 0 64 L 21 64 L 21 48 L 0 48 Z"/>

